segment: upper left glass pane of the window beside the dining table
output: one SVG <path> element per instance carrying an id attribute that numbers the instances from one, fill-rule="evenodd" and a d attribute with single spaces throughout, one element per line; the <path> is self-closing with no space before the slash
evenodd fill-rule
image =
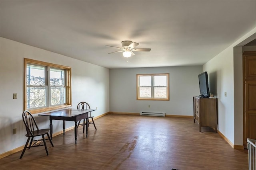
<path id="1" fill-rule="evenodd" d="M 27 85 L 45 85 L 45 67 L 27 64 Z"/>

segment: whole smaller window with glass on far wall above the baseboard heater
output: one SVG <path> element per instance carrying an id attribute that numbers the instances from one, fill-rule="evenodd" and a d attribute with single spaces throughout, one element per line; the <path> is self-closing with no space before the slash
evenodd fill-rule
<path id="1" fill-rule="evenodd" d="M 169 100 L 169 73 L 137 74 L 137 100 Z"/>

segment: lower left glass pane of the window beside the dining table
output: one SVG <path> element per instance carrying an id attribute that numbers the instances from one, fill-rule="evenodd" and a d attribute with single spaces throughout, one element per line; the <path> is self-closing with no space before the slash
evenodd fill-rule
<path id="1" fill-rule="evenodd" d="M 46 106 L 45 87 L 27 87 L 27 108 Z"/>

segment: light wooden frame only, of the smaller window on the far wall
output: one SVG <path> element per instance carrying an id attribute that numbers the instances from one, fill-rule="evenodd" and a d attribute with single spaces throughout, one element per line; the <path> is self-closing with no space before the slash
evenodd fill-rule
<path id="1" fill-rule="evenodd" d="M 139 78 L 140 78 L 140 76 L 151 76 L 151 86 L 148 86 L 148 87 L 151 87 L 151 98 L 140 98 L 139 96 L 140 96 L 140 90 L 139 90 L 139 88 L 141 87 L 141 86 L 139 86 L 139 83 L 140 83 L 140 80 L 139 80 Z M 159 86 L 154 86 L 154 76 L 166 76 L 166 98 L 155 98 L 154 97 L 154 88 L 155 87 L 159 87 Z M 137 96 L 137 100 L 163 100 L 163 101 L 167 101 L 167 100 L 170 100 L 170 93 L 169 93 L 169 88 L 170 88 L 170 86 L 169 86 L 169 73 L 160 73 L 160 74 L 136 74 L 136 77 L 137 77 L 137 79 L 136 79 L 136 86 L 137 86 L 137 88 L 136 88 L 136 96 Z M 160 86 L 160 87 L 162 87 L 162 86 Z M 164 86 L 165 87 L 165 86 Z"/>

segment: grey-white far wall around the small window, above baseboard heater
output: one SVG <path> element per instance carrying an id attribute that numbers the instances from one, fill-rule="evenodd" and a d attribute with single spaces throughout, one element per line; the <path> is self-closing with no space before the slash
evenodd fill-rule
<path id="1" fill-rule="evenodd" d="M 170 101 L 136 100 L 136 74 L 156 73 L 170 73 Z M 192 116 L 193 96 L 200 94 L 200 73 L 202 66 L 110 69 L 110 111 L 164 111 L 167 115 Z"/>

